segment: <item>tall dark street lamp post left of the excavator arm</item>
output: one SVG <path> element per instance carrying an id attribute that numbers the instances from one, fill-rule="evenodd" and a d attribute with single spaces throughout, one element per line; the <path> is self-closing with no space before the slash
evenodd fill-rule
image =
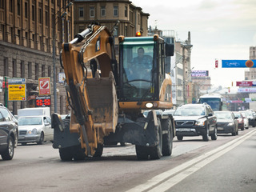
<path id="1" fill-rule="evenodd" d="M 65 9 L 66 10 L 67 8 L 69 8 L 70 6 L 72 6 L 73 3 L 70 2 L 69 4 L 67 4 L 65 6 Z M 64 11 L 63 10 L 63 11 Z M 64 18 L 66 17 L 66 11 L 60 13 L 62 14 L 61 16 L 59 16 L 59 12 L 57 13 L 57 17 L 55 17 L 55 14 L 54 14 L 54 23 L 53 23 L 53 64 L 54 64 L 54 113 L 57 113 L 58 111 L 58 99 L 57 99 L 57 85 L 56 85 L 56 24 L 58 23 L 58 18 Z"/>

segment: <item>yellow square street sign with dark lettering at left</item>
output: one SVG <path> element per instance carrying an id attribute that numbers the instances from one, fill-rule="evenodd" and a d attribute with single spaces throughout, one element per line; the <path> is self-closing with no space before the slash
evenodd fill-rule
<path id="1" fill-rule="evenodd" d="M 26 101 L 26 84 L 11 84 L 8 91 L 9 101 Z"/>

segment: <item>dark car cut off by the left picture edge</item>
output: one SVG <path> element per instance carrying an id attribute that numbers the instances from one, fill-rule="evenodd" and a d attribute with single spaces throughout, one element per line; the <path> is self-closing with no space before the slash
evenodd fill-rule
<path id="1" fill-rule="evenodd" d="M 0 106 L 0 154 L 3 160 L 14 157 L 18 141 L 18 122 L 5 106 Z"/>

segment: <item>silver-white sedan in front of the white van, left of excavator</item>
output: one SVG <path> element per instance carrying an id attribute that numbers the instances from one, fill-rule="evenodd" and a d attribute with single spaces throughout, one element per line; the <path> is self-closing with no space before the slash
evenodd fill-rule
<path id="1" fill-rule="evenodd" d="M 46 116 L 24 116 L 18 118 L 18 143 L 54 141 L 54 129 Z"/>

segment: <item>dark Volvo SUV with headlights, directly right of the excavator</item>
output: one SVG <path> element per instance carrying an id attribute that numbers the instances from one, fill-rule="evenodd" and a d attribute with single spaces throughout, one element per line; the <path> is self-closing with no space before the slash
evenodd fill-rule
<path id="1" fill-rule="evenodd" d="M 217 139 L 217 118 L 206 103 L 186 104 L 174 112 L 176 136 L 182 141 L 184 136 L 202 135 L 204 141 Z"/>

